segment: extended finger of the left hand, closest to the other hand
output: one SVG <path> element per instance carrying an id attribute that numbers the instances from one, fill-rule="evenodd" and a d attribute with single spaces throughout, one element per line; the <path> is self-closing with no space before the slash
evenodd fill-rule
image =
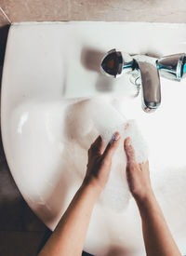
<path id="1" fill-rule="evenodd" d="M 112 137 L 111 141 L 109 141 L 109 143 L 102 155 L 102 157 L 104 159 L 112 159 L 113 154 L 119 145 L 119 141 L 120 141 L 119 132 L 113 133 L 113 137 Z"/>

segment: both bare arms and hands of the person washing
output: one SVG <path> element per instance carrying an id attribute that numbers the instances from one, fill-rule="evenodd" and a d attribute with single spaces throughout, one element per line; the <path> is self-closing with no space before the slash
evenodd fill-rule
<path id="1" fill-rule="evenodd" d="M 69 208 L 60 219 L 52 236 L 39 256 L 82 255 L 91 213 L 101 191 L 109 179 L 112 157 L 120 136 L 116 132 L 104 149 L 100 137 L 88 150 L 86 177 L 74 195 Z M 126 177 L 134 196 L 142 222 L 145 249 L 148 256 L 179 256 L 179 249 L 168 229 L 150 181 L 149 163 L 137 163 L 129 138 L 124 142 L 126 151 Z"/>

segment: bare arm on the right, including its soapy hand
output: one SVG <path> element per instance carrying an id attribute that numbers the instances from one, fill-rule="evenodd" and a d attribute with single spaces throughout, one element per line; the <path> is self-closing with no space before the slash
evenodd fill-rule
<path id="1" fill-rule="evenodd" d="M 180 256 L 168 229 L 163 212 L 156 201 L 150 181 L 149 163 L 138 164 L 130 139 L 125 141 L 126 177 L 142 222 L 143 239 L 148 256 Z"/>

